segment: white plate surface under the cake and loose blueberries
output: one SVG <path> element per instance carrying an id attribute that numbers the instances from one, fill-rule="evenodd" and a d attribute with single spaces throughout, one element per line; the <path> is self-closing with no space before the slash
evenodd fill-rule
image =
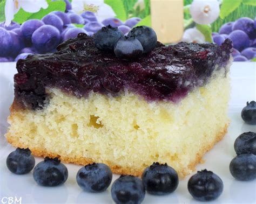
<path id="1" fill-rule="evenodd" d="M 5 159 L 14 147 L 4 138 L 6 118 L 9 115 L 9 105 L 13 98 L 13 76 L 16 73 L 14 63 L 0 64 L 0 203 L 4 197 L 22 197 L 22 203 L 113 203 L 110 187 L 103 193 L 85 193 L 76 184 L 76 173 L 81 166 L 67 164 L 69 178 L 59 187 L 41 187 L 33 180 L 32 173 L 15 175 L 5 166 Z M 256 125 L 245 124 L 240 111 L 247 101 L 256 100 L 256 64 L 254 62 L 236 62 L 231 67 L 232 92 L 229 107 L 231 118 L 230 128 L 221 142 L 205 154 L 204 164 L 199 164 L 197 170 L 207 168 L 218 174 L 224 182 L 221 196 L 209 203 L 256 203 L 256 180 L 242 182 L 235 180 L 229 172 L 229 164 L 235 156 L 233 144 L 242 132 L 256 132 Z M 36 158 L 36 164 L 42 158 Z M 143 203 L 198 203 L 187 191 L 187 181 L 180 181 L 177 190 L 167 196 L 152 196 L 146 194 Z M 118 178 L 114 175 L 113 180 Z M 6 201 L 3 200 L 4 202 Z M 202 202 L 200 202 L 202 203 Z"/>

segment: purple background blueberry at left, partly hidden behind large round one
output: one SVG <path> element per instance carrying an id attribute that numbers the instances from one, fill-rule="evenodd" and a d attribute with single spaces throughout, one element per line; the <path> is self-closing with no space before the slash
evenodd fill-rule
<path id="1" fill-rule="evenodd" d="M 31 46 L 31 37 L 33 32 L 35 32 L 35 30 L 37 30 L 39 27 L 43 25 L 44 25 L 44 22 L 38 19 L 27 20 L 21 25 L 21 31 L 23 33 L 25 44 L 27 46 Z"/>

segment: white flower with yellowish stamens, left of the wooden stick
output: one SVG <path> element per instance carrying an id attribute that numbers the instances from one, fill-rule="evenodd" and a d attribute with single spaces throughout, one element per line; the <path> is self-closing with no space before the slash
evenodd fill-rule
<path id="1" fill-rule="evenodd" d="M 104 4 L 104 0 L 73 0 L 71 4 L 73 11 L 78 15 L 84 11 L 94 12 L 99 22 L 116 16 L 111 6 Z"/>

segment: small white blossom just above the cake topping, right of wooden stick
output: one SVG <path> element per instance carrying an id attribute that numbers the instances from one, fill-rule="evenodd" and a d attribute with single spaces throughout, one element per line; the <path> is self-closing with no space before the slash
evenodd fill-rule
<path id="1" fill-rule="evenodd" d="M 196 27 L 193 27 L 185 30 L 182 41 L 186 43 L 205 43 L 205 37 Z"/>

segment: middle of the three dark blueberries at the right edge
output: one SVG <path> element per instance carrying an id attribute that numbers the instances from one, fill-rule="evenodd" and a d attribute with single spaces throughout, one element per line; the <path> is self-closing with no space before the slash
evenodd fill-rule
<path id="1" fill-rule="evenodd" d="M 235 139 L 234 149 L 239 154 L 252 153 L 256 155 L 256 133 L 244 132 Z"/>

